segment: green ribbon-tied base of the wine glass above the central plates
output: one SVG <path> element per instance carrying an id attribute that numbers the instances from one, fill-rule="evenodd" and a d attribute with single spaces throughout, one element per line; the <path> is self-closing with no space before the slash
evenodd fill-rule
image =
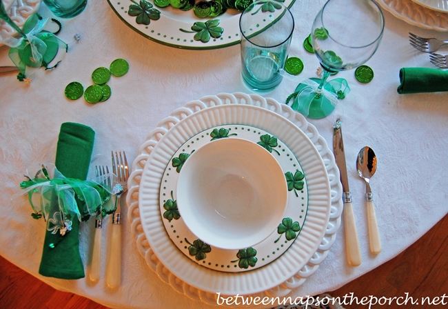
<path id="1" fill-rule="evenodd" d="M 298 84 L 296 88 L 298 95 L 294 100 L 292 108 L 305 117 L 320 119 L 327 117 L 335 108 L 334 100 L 328 99 L 323 92 L 318 93 L 316 88 L 304 83 Z"/>

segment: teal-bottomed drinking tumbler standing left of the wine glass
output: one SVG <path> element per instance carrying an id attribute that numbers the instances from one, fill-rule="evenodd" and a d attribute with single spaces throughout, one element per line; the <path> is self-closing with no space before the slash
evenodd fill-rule
<path id="1" fill-rule="evenodd" d="M 282 81 L 294 18 L 278 1 L 256 1 L 240 17 L 241 74 L 252 90 L 268 92 Z"/>

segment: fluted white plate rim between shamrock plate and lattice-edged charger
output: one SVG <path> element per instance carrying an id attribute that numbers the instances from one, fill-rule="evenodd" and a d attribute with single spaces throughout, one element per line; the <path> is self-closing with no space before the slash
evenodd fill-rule
<path id="1" fill-rule="evenodd" d="M 159 212 L 160 181 L 172 155 L 194 134 L 223 124 L 254 126 L 281 139 L 301 163 L 308 185 L 307 218 L 296 241 L 272 263 L 247 272 L 217 272 L 194 263 L 185 255 L 172 254 L 178 249 L 167 236 Z M 176 277 L 211 293 L 249 295 L 280 285 L 312 258 L 325 235 L 331 200 L 325 164 L 312 141 L 294 123 L 257 106 L 225 105 L 200 110 L 182 119 L 156 144 L 141 175 L 139 211 L 152 250 Z"/>

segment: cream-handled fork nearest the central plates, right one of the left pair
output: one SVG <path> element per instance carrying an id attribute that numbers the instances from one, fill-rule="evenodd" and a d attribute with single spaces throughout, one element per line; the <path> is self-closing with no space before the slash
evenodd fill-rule
<path id="1" fill-rule="evenodd" d="M 109 288 L 117 288 L 121 283 L 121 205 L 120 198 L 128 191 L 129 166 L 123 151 L 112 151 L 112 172 L 116 175 L 117 184 L 112 191 L 116 193 L 116 208 L 112 219 L 112 240 L 108 263 L 107 282 Z"/>

